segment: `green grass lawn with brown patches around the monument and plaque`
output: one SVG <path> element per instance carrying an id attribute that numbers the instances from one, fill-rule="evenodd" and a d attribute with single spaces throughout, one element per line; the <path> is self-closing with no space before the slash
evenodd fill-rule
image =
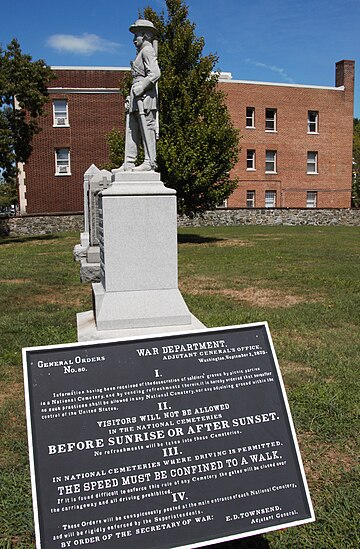
<path id="1" fill-rule="evenodd" d="M 0 549 L 35 546 L 21 349 L 76 341 L 78 239 L 0 240 Z M 317 518 L 213 547 L 359 547 L 360 229 L 181 229 L 179 285 L 208 327 L 268 321 Z"/>

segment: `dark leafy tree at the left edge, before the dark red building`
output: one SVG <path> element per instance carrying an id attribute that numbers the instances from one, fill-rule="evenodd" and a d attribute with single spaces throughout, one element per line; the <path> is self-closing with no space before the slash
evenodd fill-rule
<path id="1" fill-rule="evenodd" d="M 52 78 L 50 67 L 23 54 L 15 38 L 6 50 L 0 47 L 0 167 L 6 181 L 31 154 Z"/>

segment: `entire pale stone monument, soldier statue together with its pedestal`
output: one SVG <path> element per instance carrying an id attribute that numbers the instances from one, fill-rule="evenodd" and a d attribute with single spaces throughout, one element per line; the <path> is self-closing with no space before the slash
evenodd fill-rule
<path id="1" fill-rule="evenodd" d="M 176 192 L 155 171 L 156 29 L 139 19 L 130 32 L 137 55 L 126 100 L 125 158 L 98 193 L 100 282 L 93 284 L 93 310 L 77 315 L 79 341 L 203 327 L 178 289 Z M 136 165 L 141 143 L 144 161 Z"/>

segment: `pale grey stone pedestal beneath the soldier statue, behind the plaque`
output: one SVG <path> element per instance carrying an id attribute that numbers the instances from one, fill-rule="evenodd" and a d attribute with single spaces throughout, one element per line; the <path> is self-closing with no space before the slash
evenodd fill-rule
<path id="1" fill-rule="evenodd" d="M 79 341 L 203 327 L 178 289 L 175 191 L 158 173 L 115 171 L 99 198 L 101 281 Z"/>

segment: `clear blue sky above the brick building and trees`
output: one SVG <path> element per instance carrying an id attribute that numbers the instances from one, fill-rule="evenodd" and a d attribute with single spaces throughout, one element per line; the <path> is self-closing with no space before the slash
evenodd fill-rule
<path id="1" fill-rule="evenodd" d="M 335 62 L 360 65 L 360 0 L 187 0 L 204 53 L 234 79 L 333 86 Z M 24 53 L 52 66 L 129 65 L 129 26 L 138 10 L 163 0 L 18 0 L 1 8 L 0 43 L 16 37 Z M 360 72 L 355 73 L 360 117 Z"/>

